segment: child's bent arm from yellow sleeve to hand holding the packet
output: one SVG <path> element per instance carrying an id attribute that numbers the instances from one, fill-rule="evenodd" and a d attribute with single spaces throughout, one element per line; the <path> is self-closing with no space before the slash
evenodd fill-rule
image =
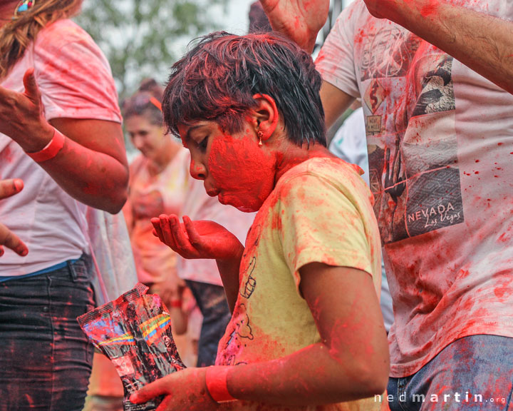
<path id="1" fill-rule="evenodd" d="M 388 343 L 371 276 L 322 263 L 299 271 L 321 342 L 277 360 L 210 367 L 209 372 L 227 370 L 227 389 L 239 400 L 294 406 L 381 395 L 388 381 Z M 142 387 L 130 401 L 166 395 L 159 411 L 214 410 L 206 372 L 190 368 L 167 375 Z"/>

